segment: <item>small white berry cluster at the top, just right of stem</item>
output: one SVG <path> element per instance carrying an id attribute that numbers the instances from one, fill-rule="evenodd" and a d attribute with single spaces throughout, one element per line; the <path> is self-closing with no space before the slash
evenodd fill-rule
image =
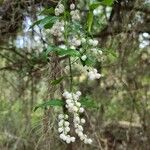
<path id="1" fill-rule="evenodd" d="M 71 9 L 70 15 L 71 15 L 72 20 L 73 21 L 80 21 L 80 19 L 81 19 L 80 18 L 80 11 L 78 9 L 75 9 L 75 5 L 73 3 L 70 5 L 70 9 Z"/>

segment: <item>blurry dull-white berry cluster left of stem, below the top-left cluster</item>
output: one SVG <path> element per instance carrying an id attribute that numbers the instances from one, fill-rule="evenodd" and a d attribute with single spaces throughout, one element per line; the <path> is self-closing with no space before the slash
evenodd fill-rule
<path id="1" fill-rule="evenodd" d="M 50 29 L 50 33 L 57 37 L 62 37 L 64 32 L 64 21 L 56 21 L 52 28 Z"/>

